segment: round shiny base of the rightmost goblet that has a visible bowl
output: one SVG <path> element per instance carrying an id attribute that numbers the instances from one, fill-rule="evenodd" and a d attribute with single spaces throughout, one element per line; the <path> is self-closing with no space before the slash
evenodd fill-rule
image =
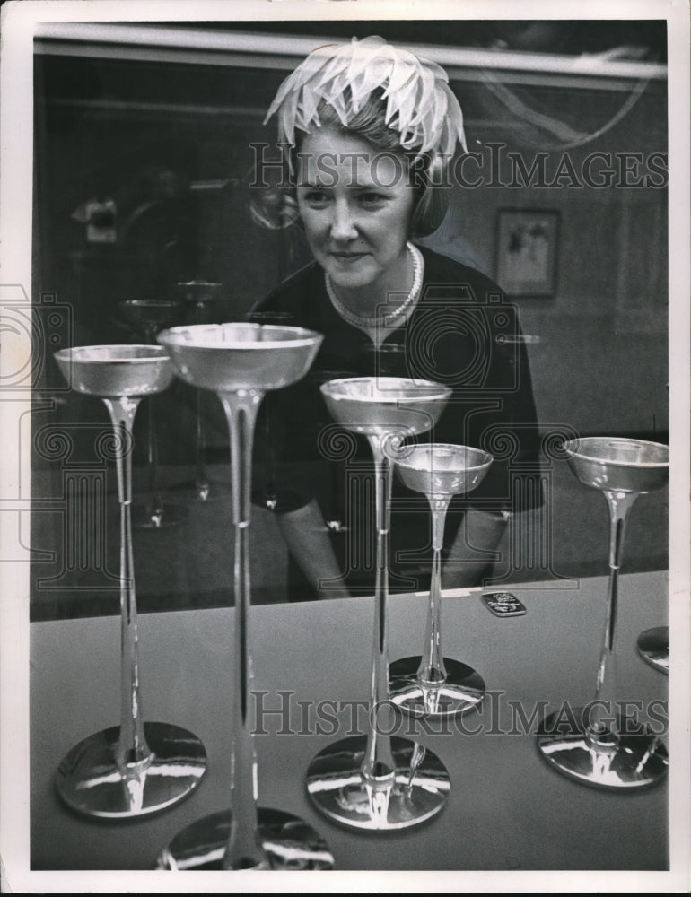
<path id="1" fill-rule="evenodd" d="M 617 720 L 617 734 L 590 734 L 582 708 L 568 722 L 553 713 L 542 723 L 538 750 L 556 771 L 592 788 L 624 790 L 655 785 L 665 777 L 669 760 L 658 736 L 629 720 Z"/>

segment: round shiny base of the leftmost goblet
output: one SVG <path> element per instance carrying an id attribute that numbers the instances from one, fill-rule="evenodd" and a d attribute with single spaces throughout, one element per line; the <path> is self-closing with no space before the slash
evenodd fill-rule
<path id="1" fill-rule="evenodd" d="M 78 813 L 133 819 L 157 813 L 197 788 L 206 772 L 206 749 L 197 736 L 169 723 L 144 723 L 149 762 L 121 770 L 115 762 L 120 729 L 84 738 L 56 774 L 58 795 Z"/>

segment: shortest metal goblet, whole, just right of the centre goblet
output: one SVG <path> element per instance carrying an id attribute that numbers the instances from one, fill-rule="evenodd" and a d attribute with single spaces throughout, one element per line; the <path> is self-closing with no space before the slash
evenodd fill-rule
<path id="1" fill-rule="evenodd" d="M 443 443 L 414 446 L 396 459 L 403 483 L 424 492 L 432 511 L 433 566 L 424 653 L 389 666 L 391 701 L 416 717 L 453 716 L 475 707 L 485 695 L 485 683 L 472 667 L 443 656 L 442 546 L 451 498 L 475 489 L 492 461 L 477 448 Z"/>

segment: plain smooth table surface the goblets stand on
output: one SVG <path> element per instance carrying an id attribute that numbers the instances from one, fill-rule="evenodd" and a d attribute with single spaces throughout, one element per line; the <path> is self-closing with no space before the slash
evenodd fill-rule
<path id="1" fill-rule="evenodd" d="M 512 711 L 520 702 L 529 718 L 540 702 L 555 710 L 564 701 L 590 701 L 607 579 L 535 583 L 512 591 L 526 605 L 523 616 L 494 616 L 479 589 L 444 594 L 444 653 L 475 666 L 488 693 L 483 709 L 463 717 L 460 727 L 425 733 L 420 723 L 404 724 L 446 764 L 451 792 L 442 814 L 429 823 L 383 837 L 329 823 L 305 789 L 311 758 L 349 734 L 353 723 L 364 725 L 354 704 L 346 703 L 338 730 L 319 735 L 311 714 L 319 701 L 367 701 L 372 598 L 253 607 L 252 710 L 283 708 L 256 717 L 257 731 L 266 733 L 255 736 L 259 806 L 299 814 L 314 825 L 328 841 L 337 870 L 666 869 L 667 782 L 622 794 L 565 779 L 539 755 L 537 724 L 521 726 Z M 645 710 L 652 707 L 658 715 L 665 713 L 668 677 L 638 656 L 635 641 L 640 631 L 667 623 L 667 597 L 664 572 L 620 579 L 619 697 L 643 701 Z M 389 597 L 391 659 L 419 654 L 425 610 L 424 595 Z M 153 869 L 179 830 L 229 806 L 233 613 L 209 608 L 140 614 L 144 718 L 194 732 L 209 764 L 197 790 L 178 806 L 117 823 L 68 811 L 53 777 L 81 738 L 118 723 L 118 618 L 31 624 L 33 870 Z M 303 707 L 310 708 L 307 719 Z"/>

